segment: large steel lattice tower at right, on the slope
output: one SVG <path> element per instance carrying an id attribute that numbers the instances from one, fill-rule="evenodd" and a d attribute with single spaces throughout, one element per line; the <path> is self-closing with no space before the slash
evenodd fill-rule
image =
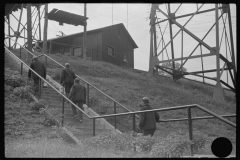
<path id="1" fill-rule="evenodd" d="M 173 80 L 190 75 L 214 82 L 217 100 L 225 99 L 222 85 L 236 92 L 230 11 L 229 4 L 152 4 L 149 72 L 165 71 Z"/>

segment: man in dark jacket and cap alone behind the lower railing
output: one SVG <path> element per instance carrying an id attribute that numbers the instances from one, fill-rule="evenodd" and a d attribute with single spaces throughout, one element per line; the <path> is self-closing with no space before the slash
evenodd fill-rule
<path id="1" fill-rule="evenodd" d="M 143 97 L 143 103 L 143 105 L 140 105 L 140 111 L 153 109 L 150 107 L 149 99 L 147 97 Z M 156 122 L 159 122 L 159 114 L 157 112 L 141 113 L 138 127 L 140 130 L 143 130 L 144 136 L 153 136 L 156 130 Z"/>

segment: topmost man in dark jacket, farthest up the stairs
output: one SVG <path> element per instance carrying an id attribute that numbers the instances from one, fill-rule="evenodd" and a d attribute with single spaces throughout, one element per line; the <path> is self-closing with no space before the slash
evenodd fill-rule
<path id="1" fill-rule="evenodd" d="M 33 69 L 35 72 L 37 72 L 37 74 L 39 74 L 41 77 L 46 79 L 46 68 L 43 63 L 38 61 L 37 57 L 34 56 L 32 58 L 32 63 L 30 64 L 30 68 Z M 33 81 L 34 81 L 35 92 L 38 92 L 40 78 L 29 69 L 28 78 L 31 78 L 31 77 L 33 78 Z"/>

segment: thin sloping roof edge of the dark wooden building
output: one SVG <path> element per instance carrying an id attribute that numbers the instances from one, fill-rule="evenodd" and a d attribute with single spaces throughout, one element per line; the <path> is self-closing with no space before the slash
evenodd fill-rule
<path id="1" fill-rule="evenodd" d="M 127 31 L 127 29 L 125 28 L 125 26 L 123 25 L 123 23 L 119 23 L 119 24 L 115 24 L 115 25 L 111 25 L 111 26 L 107 26 L 107 27 L 103 27 L 103 28 L 98 28 L 98 29 L 94 29 L 94 30 L 89 30 L 87 31 L 87 34 L 92 33 L 92 32 L 100 32 L 104 29 L 110 28 L 110 27 L 116 27 L 119 26 L 125 33 L 125 35 L 128 37 L 128 39 L 130 40 L 130 42 L 132 43 L 134 48 L 138 48 L 137 44 L 135 43 L 135 41 L 132 39 L 131 35 L 129 34 L 129 32 Z M 48 39 L 48 41 L 52 41 L 52 40 L 57 40 L 57 39 L 62 39 L 62 38 L 67 38 L 67 37 L 71 37 L 71 36 L 77 36 L 77 35 L 82 35 L 83 32 L 80 33 L 74 33 L 74 34 L 70 34 L 70 35 L 66 35 L 66 36 L 62 36 L 62 37 L 56 37 L 56 38 L 52 38 L 52 39 Z M 41 42 L 40 42 L 41 43 Z"/>

